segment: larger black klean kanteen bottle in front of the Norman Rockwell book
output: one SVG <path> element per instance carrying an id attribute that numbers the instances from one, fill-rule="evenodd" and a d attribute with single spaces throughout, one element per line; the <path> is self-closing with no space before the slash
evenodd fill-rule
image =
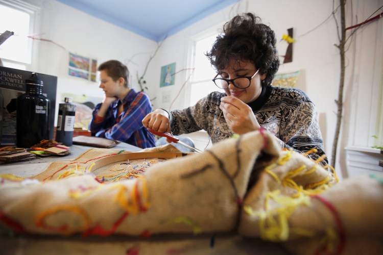
<path id="1" fill-rule="evenodd" d="M 25 81 L 26 93 L 17 97 L 17 147 L 30 148 L 41 140 L 49 140 L 50 101 L 42 94 L 43 82 L 33 72 Z"/>

